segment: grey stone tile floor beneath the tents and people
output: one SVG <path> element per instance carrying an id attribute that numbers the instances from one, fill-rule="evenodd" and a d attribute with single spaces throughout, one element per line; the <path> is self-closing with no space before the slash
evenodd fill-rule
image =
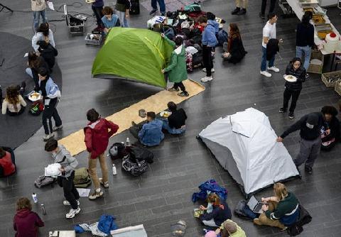
<path id="1" fill-rule="evenodd" d="M 69 11 L 91 14 L 90 6 L 76 1 L 65 1 Z M 113 5 L 113 1 L 106 1 Z M 1 2 L 14 10 L 30 11 L 29 1 Z M 55 1 L 55 6 L 63 4 Z M 73 5 L 72 5 L 73 4 Z M 291 57 L 295 56 L 295 28 L 297 18 L 279 18 L 277 24 L 278 38 L 283 38 L 281 51 L 276 56 L 276 66 L 281 70 L 274 73 L 271 79 L 259 75 L 261 57 L 261 29 L 265 21 L 258 17 L 260 0 L 250 1 L 247 15 L 232 16 L 233 1 L 207 0 L 202 3 L 204 11 L 212 11 L 224 18 L 227 23 L 238 24 L 244 46 L 249 52 L 247 57 L 237 65 L 222 62 L 217 48 L 214 80 L 205 84 L 206 90 L 201 94 L 180 104 L 188 114 L 187 131 L 183 136 L 166 136 L 156 148 L 155 162 L 149 165 L 148 172 L 141 177 L 131 177 L 118 169 L 118 174 L 110 177 L 109 189 L 104 197 L 94 202 L 82 198 L 82 211 L 75 219 L 65 219 L 67 208 L 63 206 L 62 189 L 36 189 L 33 182 L 43 172 L 43 167 L 52 162 L 43 151 L 43 130 L 40 128 L 26 143 L 16 149 L 18 172 L 12 177 L 0 180 L 0 236 L 13 236 L 12 219 L 15 213 L 15 202 L 18 197 L 31 197 L 32 192 L 38 194 L 40 203 L 45 204 L 47 215 L 42 216 L 38 206 L 33 209 L 42 216 L 45 227 L 40 228 L 40 236 L 47 236 L 48 231 L 70 230 L 75 224 L 92 223 L 101 214 L 112 214 L 117 217 L 120 227 L 144 224 L 148 236 L 171 236 L 170 225 L 183 219 L 188 224 L 186 236 L 200 236 L 202 226 L 193 218 L 193 208 L 197 204 L 191 202 L 191 195 L 197 186 L 205 180 L 214 178 L 228 190 L 227 203 L 233 209 L 243 199 L 237 184 L 229 174 L 220 167 L 205 145 L 195 136 L 212 121 L 220 116 L 242 111 L 250 106 L 263 111 L 271 121 L 276 133 L 281 133 L 296 119 L 312 111 L 319 111 L 321 106 L 335 105 L 340 99 L 333 89 L 325 88 L 319 75 L 311 75 L 305 82 L 301 97 L 298 100 L 296 119 L 290 121 L 286 115 L 278 114 L 283 98 L 283 79 L 281 75 Z M 278 13 L 281 11 L 276 8 Z M 341 30 L 340 10 L 328 9 L 328 16 Z M 48 11 L 50 20 L 62 20 L 63 13 Z M 141 7 L 139 16 L 131 16 L 131 26 L 146 27 L 148 12 Z M 31 13 L 0 13 L 0 31 L 10 32 L 31 39 Z M 87 109 L 96 108 L 102 116 L 108 116 L 155 94 L 160 89 L 121 82 L 119 80 L 92 79 L 92 60 L 99 50 L 96 46 L 85 45 L 84 35 L 70 35 L 64 21 L 50 21 L 55 33 L 55 41 L 59 50 L 58 65 L 63 72 L 63 100 L 59 111 L 63 118 L 63 131 L 58 138 L 73 133 L 86 124 Z M 87 21 L 87 31 L 94 28 L 93 18 Z M 227 26 L 225 26 L 227 29 Z M 0 35 L 1 37 L 1 35 Z M 23 72 L 23 77 L 25 77 Z M 189 77 L 199 81 L 204 74 L 195 70 Z M 127 118 L 129 119 L 129 118 Z M 2 135 L 2 134 L 1 134 Z M 18 134 L 20 136 L 20 134 Z M 114 136 L 110 144 L 133 138 L 126 131 Z M 284 141 L 284 145 L 293 157 L 298 153 L 299 136 L 294 133 Z M 301 180 L 291 180 L 286 185 L 310 211 L 313 221 L 304 226 L 301 236 L 337 237 L 341 230 L 341 159 L 340 144 L 329 153 L 321 153 L 315 163 L 313 175 L 303 172 Z M 87 165 L 87 154 L 77 155 L 80 166 Z M 108 165 L 110 161 L 108 160 Z M 120 167 L 119 161 L 115 161 Z M 256 194 L 264 197 L 271 194 L 271 188 Z M 287 236 L 276 228 L 254 226 L 250 221 L 233 216 L 247 236 Z M 90 236 L 86 233 L 80 236 Z"/>

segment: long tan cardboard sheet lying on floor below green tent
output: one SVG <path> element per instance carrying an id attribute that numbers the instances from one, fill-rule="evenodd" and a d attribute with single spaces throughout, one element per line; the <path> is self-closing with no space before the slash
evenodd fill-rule
<path id="1" fill-rule="evenodd" d="M 141 118 L 139 116 L 139 109 L 146 109 L 146 111 L 154 111 L 156 114 L 160 113 L 167 109 L 167 103 L 169 101 L 173 101 L 175 104 L 179 104 L 190 97 L 194 97 L 196 94 L 203 92 L 205 87 L 201 84 L 187 79 L 183 82 L 185 84 L 186 90 L 190 94 L 189 97 L 179 97 L 178 92 L 168 92 L 163 90 L 158 92 L 157 94 L 148 97 L 147 99 L 143 99 L 136 104 L 129 106 L 126 109 L 122 109 L 116 114 L 112 114 L 108 116 L 107 119 L 109 121 L 113 121 L 114 123 L 119 125 L 119 131 L 116 134 L 125 131 L 130 128 L 131 121 L 135 123 L 140 123 L 144 121 L 145 118 Z M 62 144 L 70 151 L 72 155 L 77 155 L 82 151 L 86 150 L 84 143 L 84 131 L 81 129 L 75 133 L 70 134 L 69 136 L 58 140 L 58 143 Z"/>

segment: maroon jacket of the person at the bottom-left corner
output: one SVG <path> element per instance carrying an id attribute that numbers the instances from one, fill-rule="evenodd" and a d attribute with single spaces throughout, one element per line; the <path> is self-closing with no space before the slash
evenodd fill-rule
<path id="1" fill-rule="evenodd" d="M 38 237 L 38 227 L 44 226 L 44 222 L 38 214 L 28 209 L 16 212 L 13 220 L 13 228 L 16 237 Z"/>

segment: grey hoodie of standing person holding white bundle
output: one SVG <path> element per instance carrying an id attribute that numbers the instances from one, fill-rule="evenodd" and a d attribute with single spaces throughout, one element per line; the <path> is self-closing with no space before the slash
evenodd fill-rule
<path id="1" fill-rule="evenodd" d="M 70 177 L 72 171 L 77 167 L 78 161 L 66 150 L 64 145 L 58 145 L 58 150 L 58 153 L 52 153 L 52 157 L 55 159 L 55 163 L 60 163 L 64 168 L 65 175 L 63 177 Z"/>

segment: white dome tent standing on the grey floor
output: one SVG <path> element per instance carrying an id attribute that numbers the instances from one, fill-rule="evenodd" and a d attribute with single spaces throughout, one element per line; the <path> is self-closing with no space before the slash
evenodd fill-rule
<path id="1" fill-rule="evenodd" d="M 299 176 L 288 150 L 276 142 L 269 118 L 254 108 L 218 118 L 199 138 L 247 197 L 274 182 Z"/>

